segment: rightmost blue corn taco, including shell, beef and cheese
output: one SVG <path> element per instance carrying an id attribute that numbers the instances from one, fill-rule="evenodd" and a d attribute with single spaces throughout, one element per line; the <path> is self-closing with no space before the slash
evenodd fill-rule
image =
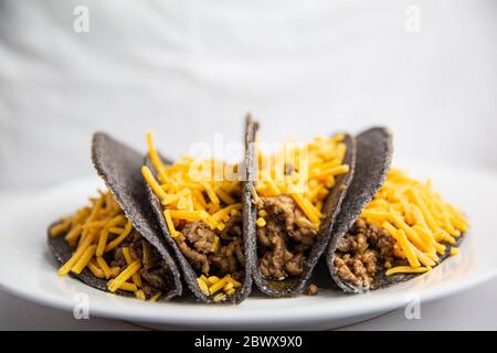
<path id="1" fill-rule="evenodd" d="M 334 281 L 366 292 L 430 271 L 468 229 L 467 218 L 433 190 L 390 169 L 392 137 L 383 128 L 357 136 L 352 183 L 327 252 Z"/>

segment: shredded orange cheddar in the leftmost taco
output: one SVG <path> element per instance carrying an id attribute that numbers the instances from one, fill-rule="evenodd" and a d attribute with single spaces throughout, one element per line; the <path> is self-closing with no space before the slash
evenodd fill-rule
<path id="1" fill-rule="evenodd" d="M 108 280 L 109 291 L 131 291 L 136 298 L 146 300 L 138 272 L 141 259 L 136 259 L 127 247 L 123 247 L 126 268 L 109 267 L 104 258 L 131 234 L 131 222 L 109 192 L 101 193 L 91 202 L 91 206 L 78 210 L 74 216 L 63 218 L 50 229 L 51 236 L 65 234 L 65 240 L 74 248 L 71 258 L 59 269 L 59 275 L 65 276 L 71 271 L 81 274 L 87 268 L 95 277 Z M 155 293 L 149 300 L 159 298 L 160 293 Z"/>

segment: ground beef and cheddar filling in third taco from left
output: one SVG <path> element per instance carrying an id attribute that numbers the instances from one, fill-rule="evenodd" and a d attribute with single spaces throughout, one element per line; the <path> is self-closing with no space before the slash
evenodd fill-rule
<path id="1" fill-rule="evenodd" d="M 272 280 L 299 276 L 319 236 L 324 205 L 343 164 L 345 136 L 315 138 L 298 147 L 285 143 L 273 156 L 257 149 L 258 175 L 253 192 L 257 208 L 258 270 Z"/>

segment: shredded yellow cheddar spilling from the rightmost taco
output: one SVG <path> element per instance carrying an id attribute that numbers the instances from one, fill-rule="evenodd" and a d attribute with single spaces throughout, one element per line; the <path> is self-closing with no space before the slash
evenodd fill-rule
<path id="1" fill-rule="evenodd" d="M 387 276 L 430 270 L 468 229 L 467 218 L 434 192 L 431 182 L 422 183 L 395 169 L 361 217 L 387 231 L 394 239 L 395 257 L 409 263 L 389 268 Z M 451 247 L 450 255 L 457 253 Z"/>

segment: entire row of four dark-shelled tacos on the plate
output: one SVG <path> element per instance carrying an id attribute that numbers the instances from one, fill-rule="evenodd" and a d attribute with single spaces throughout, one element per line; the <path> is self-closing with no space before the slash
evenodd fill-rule
<path id="1" fill-rule="evenodd" d="M 240 303 L 253 282 L 268 297 L 309 291 L 320 258 L 328 281 L 360 293 L 457 254 L 467 218 L 431 182 L 391 169 L 387 129 L 271 154 L 257 129 L 248 117 L 239 164 L 171 162 L 151 133 L 145 156 L 95 133 L 92 160 L 107 190 L 50 226 L 59 274 L 141 300 Z"/>

